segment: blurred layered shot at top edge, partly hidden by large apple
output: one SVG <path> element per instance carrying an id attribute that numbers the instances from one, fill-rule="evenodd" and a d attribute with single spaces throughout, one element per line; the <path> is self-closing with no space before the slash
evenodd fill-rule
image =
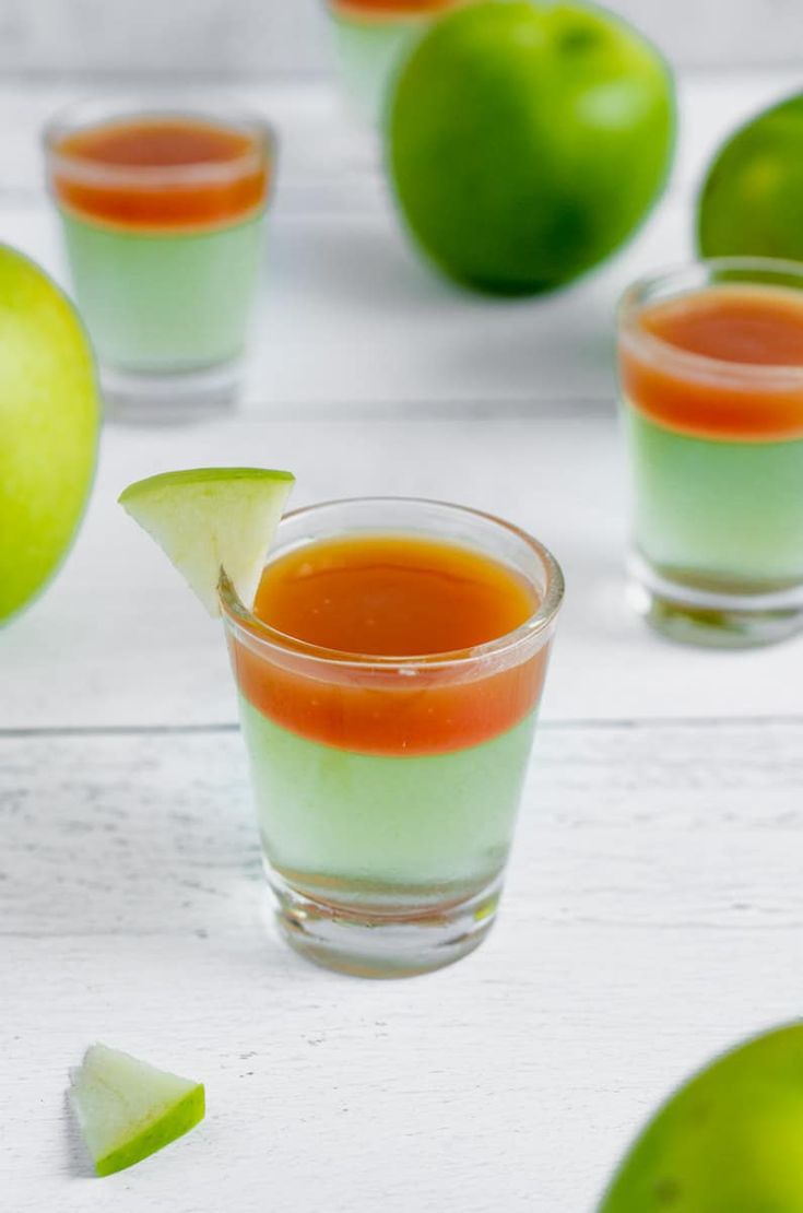
<path id="1" fill-rule="evenodd" d="M 427 25 L 465 0 L 328 0 L 343 95 L 353 114 L 381 125 L 388 87 Z"/>

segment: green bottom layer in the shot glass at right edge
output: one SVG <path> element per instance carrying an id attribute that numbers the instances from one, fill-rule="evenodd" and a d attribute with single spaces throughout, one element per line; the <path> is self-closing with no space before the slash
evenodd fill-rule
<path id="1" fill-rule="evenodd" d="M 803 582 L 803 439 L 689 438 L 632 406 L 625 420 L 634 541 L 653 568 L 731 593 Z"/>

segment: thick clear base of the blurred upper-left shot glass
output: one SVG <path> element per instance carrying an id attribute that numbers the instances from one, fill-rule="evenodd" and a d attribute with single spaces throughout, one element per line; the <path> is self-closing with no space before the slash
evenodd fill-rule
<path id="1" fill-rule="evenodd" d="M 229 411 L 241 378 L 239 361 L 169 372 L 101 369 L 108 416 L 124 425 L 182 425 Z"/>

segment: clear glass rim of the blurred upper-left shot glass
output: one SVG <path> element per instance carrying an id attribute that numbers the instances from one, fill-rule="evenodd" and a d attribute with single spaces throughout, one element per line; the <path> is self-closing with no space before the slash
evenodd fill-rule
<path id="1" fill-rule="evenodd" d="M 250 136 L 252 143 L 230 160 L 197 160 L 180 165 L 120 165 L 89 160 L 72 152 L 61 152 L 58 142 L 84 130 L 95 130 L 136 119 L 194 119 L 235 130 Z M 274 126 L 255 110 L 237 102 L 154 99 L 136 93 L 110 93 L 108 96 L 73 101 L 49 119 L 41 142 L 52 172 L 62 171 L 72 180 L 98 186 L 127 186 L 148 188 L 226 183 L 237 181 L 250 171 L 258 171 L 264 164 L 270 167 L 277 158 L 278 136 Z"/>

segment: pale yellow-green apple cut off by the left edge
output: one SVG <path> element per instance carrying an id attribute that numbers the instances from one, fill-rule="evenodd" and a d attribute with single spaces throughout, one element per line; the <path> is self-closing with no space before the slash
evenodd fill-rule
<path id="1" fill-rule="evenodd" d="M 45 586 L 78 530 L 101 422 L 78 313 L 0 245 L 0 623 Z"/>

